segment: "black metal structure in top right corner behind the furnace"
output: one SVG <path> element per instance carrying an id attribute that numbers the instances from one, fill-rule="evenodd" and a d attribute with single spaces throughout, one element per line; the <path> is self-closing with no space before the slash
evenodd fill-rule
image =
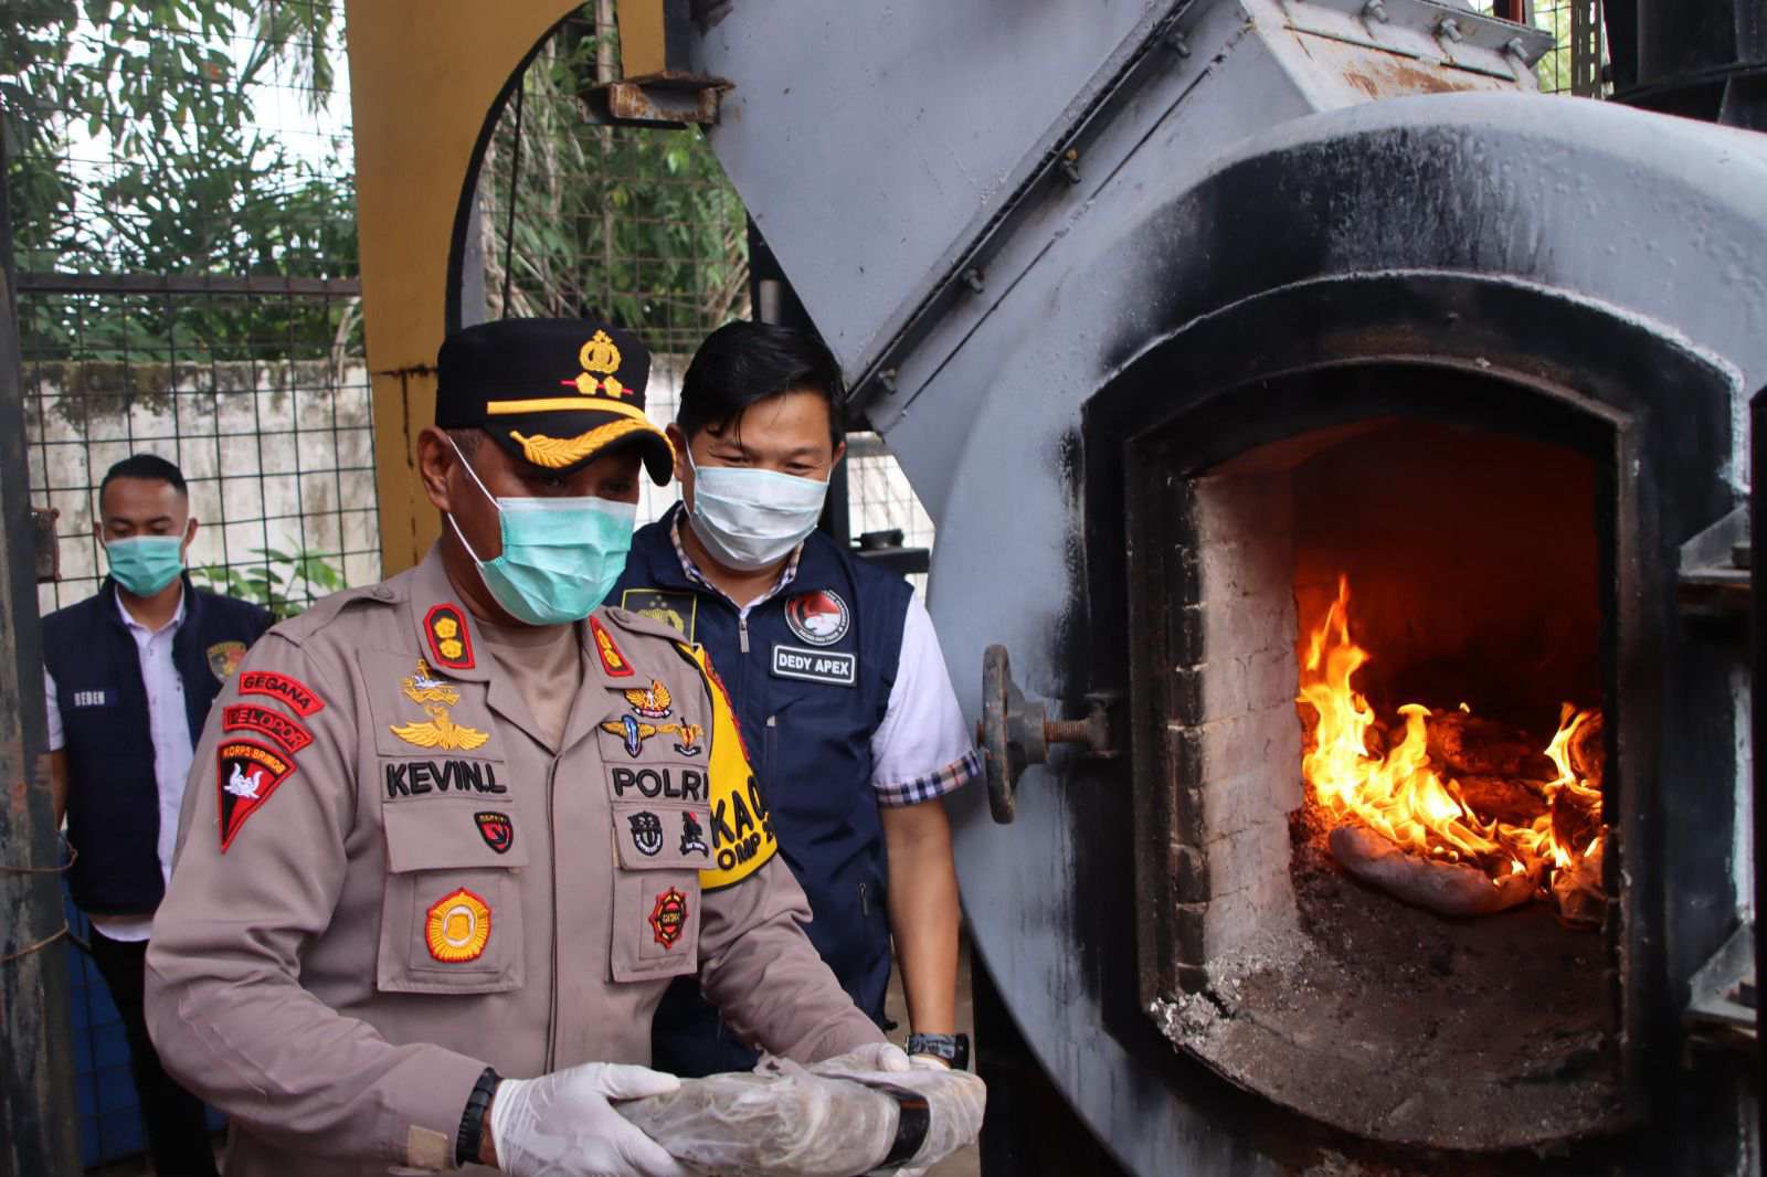
<path id="1" fill-rule="evenodd" d="M 1767 131 L 1767 0 L 1610 0 L 1615 101 Z"/>

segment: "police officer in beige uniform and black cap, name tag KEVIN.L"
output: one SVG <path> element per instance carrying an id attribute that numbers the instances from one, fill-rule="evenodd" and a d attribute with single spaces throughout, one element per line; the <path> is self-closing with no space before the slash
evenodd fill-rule
<path id="1" fill-rule="evenodd" d="M 647 375 L 595 323 L 451 336 L 419 437 L 442 539 L 216 702 L 147 967 L 228 1173 L 679 1173 L 610 1099 L 673 1090 L 641 1064 L 686 974 L 774 1053 L 906 1069 L 804 937 L 705 654 L 594 608 L 640 461 L 671 465 Z"/>

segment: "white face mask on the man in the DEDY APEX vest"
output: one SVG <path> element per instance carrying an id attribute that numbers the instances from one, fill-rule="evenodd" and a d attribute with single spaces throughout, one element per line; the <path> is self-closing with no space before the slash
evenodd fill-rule
<path id="1" fill-rule="evenodd" d="M 755 573 L 777 564 L 816 530 L 827 481 L 753 467 L 693 470 L 693 532 L 724 567 Z"/>

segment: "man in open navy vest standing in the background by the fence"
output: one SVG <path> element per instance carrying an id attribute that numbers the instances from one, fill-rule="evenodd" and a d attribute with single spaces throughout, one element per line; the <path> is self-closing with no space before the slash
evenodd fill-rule
<path id="1" fill-rule="evenodd" d="M 209 703 L 270 613 L 203 592 L 184 574 L 196 537 L 175 465 L 118 461 L 94 525 L 110 560 L 97 596 L 42 619 L 57 822 L 78 854 L 74 903 L 122 1014 L 148 1150 L 161 1177 L 216 1172 L 203 1105 L 171 1082 L 147 1036 L 143 963 L 171 877 L 178 806 Z"/>

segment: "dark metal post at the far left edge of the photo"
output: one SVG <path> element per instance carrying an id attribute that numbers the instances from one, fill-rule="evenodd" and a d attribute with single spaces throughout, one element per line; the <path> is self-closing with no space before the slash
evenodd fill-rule
<path id="1" fill-rule="evenodd" d="M 0 191 L 4 168 L 0 152 Z M 27 474 L 18 316 L 0 270 L 0 1177 L 72 1177 L 80 1136 L 67 924 L 41 769 L 48 740 Z"/>

